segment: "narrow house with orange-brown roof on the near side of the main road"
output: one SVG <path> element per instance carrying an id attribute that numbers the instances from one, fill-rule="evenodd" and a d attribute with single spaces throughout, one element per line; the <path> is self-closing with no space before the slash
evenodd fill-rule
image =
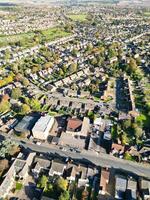
<path id="1" fill-rule="evenodd" d="M 107 186 L 109 184 L 109 178 L 110 178 L 110 171 L 109 169 L 103 168 L 101 170 L 101 177 L 100 177 L 100 194 L 105 194 L 107 192 Z"/>

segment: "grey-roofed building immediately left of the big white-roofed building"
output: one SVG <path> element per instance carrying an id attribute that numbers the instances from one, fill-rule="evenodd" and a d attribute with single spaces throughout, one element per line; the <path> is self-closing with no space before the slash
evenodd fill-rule
<path id="1" fill-rule="evenodd" d="M 15 132 L 19 134 L 30 134 L 36 120 L 37 119 L 34 116 L 30 115 L 23 117 L 23 119 L 15 126 Z"/>

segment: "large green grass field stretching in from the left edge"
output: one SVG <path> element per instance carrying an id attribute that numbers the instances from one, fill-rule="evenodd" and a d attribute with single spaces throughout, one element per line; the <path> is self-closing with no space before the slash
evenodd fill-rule
<path id="1" fill-rule="evenodd" d="M 45 41 L 52 41 L 61 37 L 69 36 L 70 33 L 62 30 L 59 27 L 49 28 L 47 30 L 41 31 Z M 34 38 L 40 38 L 39 35 L 36 35 L 34 32 L 16 34 L 16 35 L 0 35 L 0 47 L 7 46 L 9 44 L 14 44 L 20 42 L 20 45 L 23 47 L 32 47 L 36 45 Z"/>

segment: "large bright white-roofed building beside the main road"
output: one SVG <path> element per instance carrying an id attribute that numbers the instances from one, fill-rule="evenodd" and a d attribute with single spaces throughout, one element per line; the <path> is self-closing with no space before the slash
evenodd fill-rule
<path id="1" fill-rule="evenodd" d="M 46 140 L 54 122 L 54 117 L 49 115 L 41 116 L 32 129 L 33 137 L 39 140 Z"/>

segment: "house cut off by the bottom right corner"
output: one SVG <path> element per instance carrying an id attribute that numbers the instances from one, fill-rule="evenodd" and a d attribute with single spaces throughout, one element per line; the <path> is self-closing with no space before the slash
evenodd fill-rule
<path id="1" fill-rule="evenodd" d="M 150 199 L 150 181 L 146 179 L 140 179 L 139 186 L 142 200 Z"/>

